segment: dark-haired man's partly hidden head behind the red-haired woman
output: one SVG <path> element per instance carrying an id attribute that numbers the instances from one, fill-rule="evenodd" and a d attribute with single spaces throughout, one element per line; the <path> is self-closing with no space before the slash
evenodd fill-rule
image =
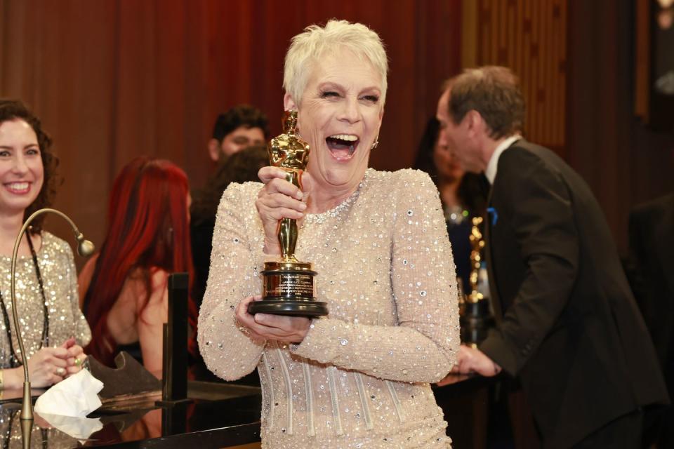
<path id="1" fill-rule="evenodd" d="M 237 105 L 220 114 L 209 140 L 209 156 L 218 162 L 251 145 L 263 145 L 269 135 L 267 116 L 249 105 Z"/>

